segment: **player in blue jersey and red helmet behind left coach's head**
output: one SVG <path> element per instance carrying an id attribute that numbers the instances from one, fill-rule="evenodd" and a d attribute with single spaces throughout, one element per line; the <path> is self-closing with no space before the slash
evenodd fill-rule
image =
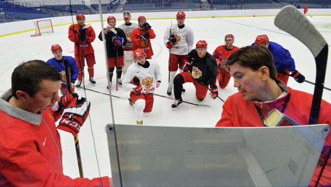
<path id="1" fill-rule="evenodd" d="M 72 92 L 74 92 L 74 90 L 75 90 L 74 83 L 75 83 L 75 81 L 77 79 L 77 76 L 78 76 L 78 68 L 77 68 L 77 64 L 76 64 L 75 59 L 71 56 L 63 56 L 62 55 L 62 48 L 58 44 L 52 45 L 50 50 L 52 51 L 52 53 L 54 55 L 54 58 L 48 59 L 46 61 L 46 63 L 51 65 L 52 67 L 54 67 L 55 69 L 57 69 L 61 73 L 61 76 L 62 76 L 61 82 L 62 82 L 62 84 L 61 84 L 60 92 L 62 93 L 62 95 L 64 95 L 65 93 L 68 92 L 67 83 L 66 83 L 66 81 L 67 81 L 66 80 L 66 73 L 65 73 L 66 70 L 65 70 L 64 62 L 63 62 L 64 59 L 67 59 L 68 63 L 69 63 L 71 89 L 72 89 Z"/>

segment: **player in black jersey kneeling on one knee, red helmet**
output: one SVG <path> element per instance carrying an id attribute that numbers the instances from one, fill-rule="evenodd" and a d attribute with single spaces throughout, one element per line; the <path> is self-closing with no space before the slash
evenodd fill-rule
<path id="1" fill-rule="evenodd" d="M 182 88 L 185 82 L 192 82 L 196 87 L 196 97 L 199 101 L 205 99 L 208 85 L 213 99 L 218 96 L 216 83 L 217 66 L 215 58 L 207 52 L 207 42 L 200 40 L 196 49 L 188 53 L 182 67 L 184 72 L 176 75 L 174 79 L 174 95 L 176 101 L 171 105 L 173 110 L 183 105 Z"/>

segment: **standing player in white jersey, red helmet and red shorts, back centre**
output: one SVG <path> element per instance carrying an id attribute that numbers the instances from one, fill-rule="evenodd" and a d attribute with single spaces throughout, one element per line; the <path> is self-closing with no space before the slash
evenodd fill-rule
<path id="1" fill-rule="evenodd" d="M 188 53 L 192 50 L 194 44 L 194 34 L 192 29 L 184 24 L 185 13 L 180 11 L 176 15 L 177 24 L 172 24 L 166 29 L 164 33 L 164 44 L 170 50 L 169 63 L 169 83 L 167 94 L 170 96 L 173 89 L 173 82 L 178 70 L 178 67 L 183 67 L 184 59 L 187 58 Z M 179 70 L 183 72 L 183 70 Z M 185 89 L 183 88 L 183 92 Z"/>

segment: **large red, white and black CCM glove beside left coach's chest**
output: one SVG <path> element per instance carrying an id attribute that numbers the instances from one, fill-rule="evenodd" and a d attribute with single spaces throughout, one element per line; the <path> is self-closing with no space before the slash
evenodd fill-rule
<path id="1" fill-rule="evenodd" d="M 71 133 L 74 137 L 77 136 L 89 115 L 90 107 L 91 103 L 87 98 L 81 98 L 75 106 L 66 107 L 57 128 Z"/>

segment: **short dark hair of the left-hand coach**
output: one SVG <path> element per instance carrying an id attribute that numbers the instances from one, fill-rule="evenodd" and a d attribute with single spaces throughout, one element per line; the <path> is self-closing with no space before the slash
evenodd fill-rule
<path id="1" fill-rule="evenodd" d="M 16 91 L 21 90 L 34 97 L 44 79 L 59 81 L 61 74 L 42 60 L 26 61 L 12 73 L 12 95 L 17 98 Z"/>

